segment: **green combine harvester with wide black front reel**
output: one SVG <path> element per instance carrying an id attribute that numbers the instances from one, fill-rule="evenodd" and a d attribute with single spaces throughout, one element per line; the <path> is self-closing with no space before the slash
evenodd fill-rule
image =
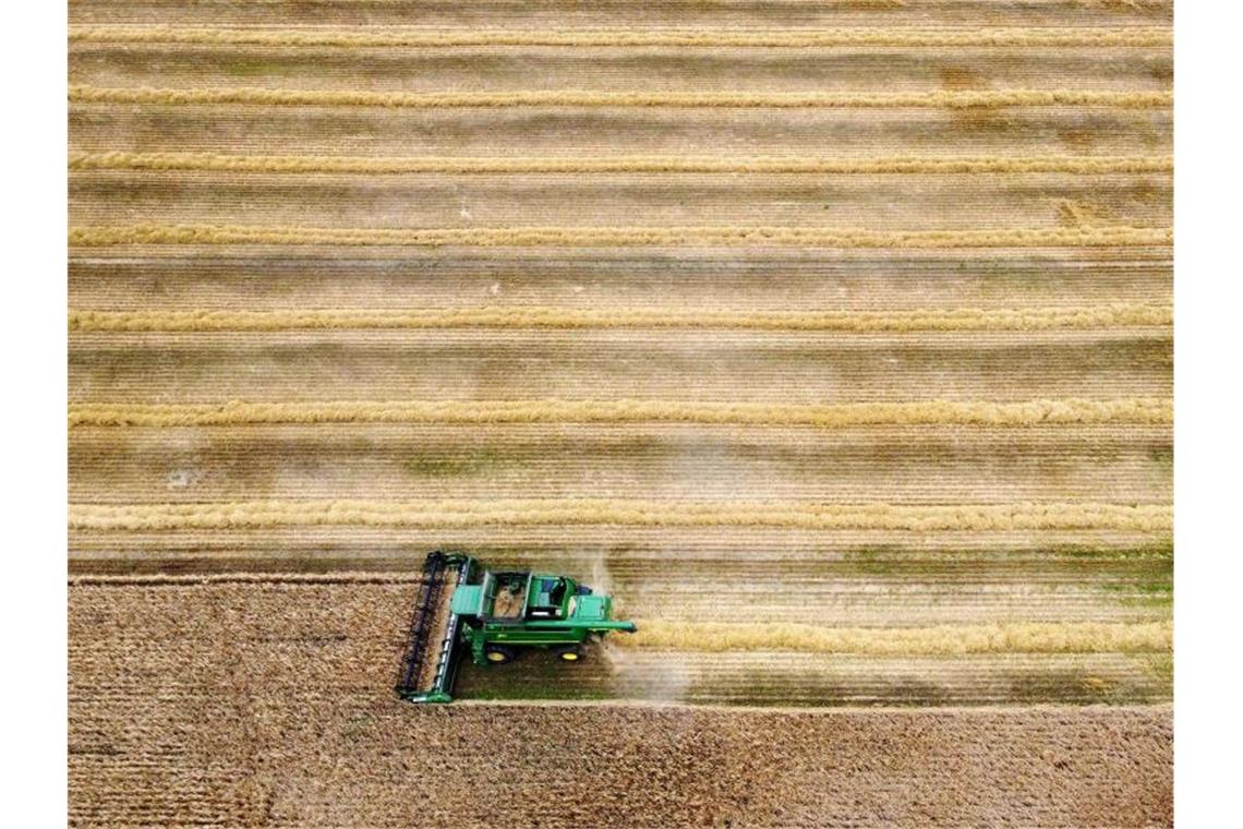
<path id="1" fill-rule="evenodd" d="M 461 553 L 429 553 L 401 657 L 397 694 L 409 702 L 451 702 L 459 659 L 500 665 L 518 648 L 551 648 L 567 662 L 585 655 L 587 638 L 610 630 L 613 599 L 564 575 L 493 573 Z"/>

